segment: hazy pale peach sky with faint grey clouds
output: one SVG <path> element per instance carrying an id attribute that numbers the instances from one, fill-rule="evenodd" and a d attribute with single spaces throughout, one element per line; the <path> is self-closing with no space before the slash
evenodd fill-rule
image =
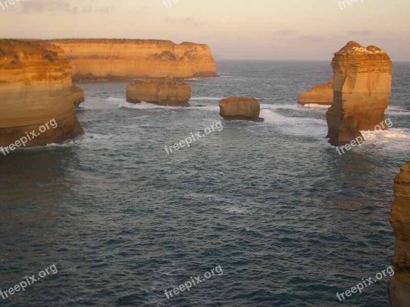
<path id="1" fill-rule="evenodd" d="M 228 59 L 300 60 L 330 60 L 356 40 L 410 61 L 409 0 L 169 1 L 20 0 L 0 5 L 0 37 L 169 39 Z"/>

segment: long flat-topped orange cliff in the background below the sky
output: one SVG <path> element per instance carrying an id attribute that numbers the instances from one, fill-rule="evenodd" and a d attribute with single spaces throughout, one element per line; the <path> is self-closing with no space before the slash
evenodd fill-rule
<path id="1" fill-rule="evenodd" d="M 73 66 L 73 79 L 215 77 L 216 64 L 207 45 L 169 40 L 52 40 Z"/>

